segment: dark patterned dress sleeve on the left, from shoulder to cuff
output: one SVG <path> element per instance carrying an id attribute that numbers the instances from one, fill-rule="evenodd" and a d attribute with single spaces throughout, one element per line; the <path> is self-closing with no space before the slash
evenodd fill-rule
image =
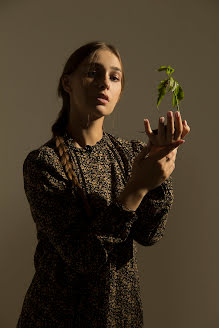
<path id="1" fill-rule="evenodd" d="M 98 271 L 106 264 L 113 245 L 127 239 L 137 220 L 134 211 L 112 203 L 88 224 L 52 148 L 30 152 L 23 164 L 23 176 L 38 236 L 52 245 L 72 275 Z"/>

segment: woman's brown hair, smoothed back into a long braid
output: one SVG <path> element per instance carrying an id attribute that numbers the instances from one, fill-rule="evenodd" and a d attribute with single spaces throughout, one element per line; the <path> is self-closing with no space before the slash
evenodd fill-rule
<path id="1" fill-rule="evenodd" d="M 78 187 L 78 191 L 84 201 L 85 210 L 88 216 L 92 214 L 91 208 L 87 201 L 86 194 L 84 193 L 81 185 L 79 184 L 77 176 L 74 172 L 75 169 L 74 164 L 69 160 L 68 149 L 65 147 L 64 139 L 63 139 L 63 136 L 68 126 L 69 112 L 70 112 L 70 97 L 68 92 L 66 92 L 63 88 L 62 78 L 64 75 L 72 74 L 86 58 L 88 58 L 88 60 L 92 62 L 97 51 L 100 49 L 111 51 L 119 59 L 122 67 L 122 79 L 121 79 L 121 84 L 122 84 L 121 93 L 122 93 L 125 85 L 125 77 L 124 77 L 124 70 L 123 70 L 122 60 L 119 51 L 114 46 L 110 44 L 106 44 L 105 42 L 101 42 L 101 41 L 89 42 L 78 48 L 75 52 L 73 52 L 64 66 L 63 73 L 60 77 L 58 90 L 57 90 L 58 96 L 62 98 L 63 105 L 62 105 L 62 109 L 58 114 L 57 120 L 52 125 L 52 137 L 55 138 L 56 151 L 59 154 L 60 161 L 65 169 L 67 177 L 72 181 L 72 186 Z"/>

